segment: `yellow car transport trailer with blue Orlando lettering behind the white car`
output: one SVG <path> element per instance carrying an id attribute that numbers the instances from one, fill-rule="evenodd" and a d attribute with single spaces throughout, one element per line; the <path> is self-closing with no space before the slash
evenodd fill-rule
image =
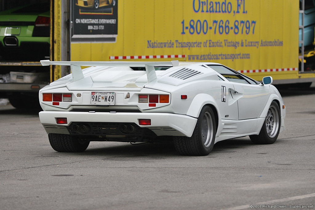
<path id="1" fill-rule="evenodd" d="M 9 2 L 0 0 L 0 10 Z M 303 0 L 109 0 L 96 5 L 86 0 L 51 0 L 49 59 L 218 62 L 258 81 L 272 76 L 273 84 L 310 84 L 315 81 L 314 67 L 304 62 L 314 63 L 314 56 L 302 56 L 304 36 L 299 38 L 299 30 L 305 24 L 299 24 L 299 15 L 304 16 L 300 5 Z M 0 27 L 3 39 L 5 29 L 1 23 Z M 20 26 L 7 27 L 14 31 Z M 10 35 L 18 40 L 19 36 Z M 45 72 L 46 79 L 0 83 L 0 97 L 14 100 L 35 94 L 69 73 L 61 66 L 34 70 L 39 60 L 23 63 L 19 59 L 2 60 L 1 69 L 4 65 L 11 69 L 0 74 L 24 71 L 12 66 L 31 65 L 34 68 L 24 72 Z"/>

